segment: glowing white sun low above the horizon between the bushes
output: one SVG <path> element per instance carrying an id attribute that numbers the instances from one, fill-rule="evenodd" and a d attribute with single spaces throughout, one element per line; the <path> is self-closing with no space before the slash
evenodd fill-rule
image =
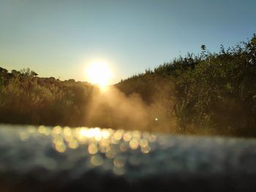
<path id="1" fill-rule="evenodd" d="M 112 77 L 113 73 L 104 61 L 93 61 L 86 67 L 86 79 L 100 88 L 106 88 Z"/>

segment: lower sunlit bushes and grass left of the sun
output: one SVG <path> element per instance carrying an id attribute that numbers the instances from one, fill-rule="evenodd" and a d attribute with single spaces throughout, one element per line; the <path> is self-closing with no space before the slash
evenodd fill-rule
<path id="1" fill-rule="evenodd" d="M 86 82 L 0 68 L 0 122 L 82 126 L 93 91 Z"/>

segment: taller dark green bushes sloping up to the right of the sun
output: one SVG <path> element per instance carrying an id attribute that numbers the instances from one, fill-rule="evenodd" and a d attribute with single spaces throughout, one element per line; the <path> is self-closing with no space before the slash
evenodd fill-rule
<path id="1" fill-rule="evenodd" d="M 202 45 L 154 70 L 121 81 L 124 93 L 140 93 L 148 103 L 164 101 L 179 133 L 256 136 L 256 36 L 219 53 Z M 161 99 L 163 98 L 163 99 Z"/>

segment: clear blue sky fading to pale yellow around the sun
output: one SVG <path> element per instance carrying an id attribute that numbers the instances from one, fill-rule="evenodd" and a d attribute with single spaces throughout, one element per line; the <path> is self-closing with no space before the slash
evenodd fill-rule
<path id="1" fill-rule="evenodd" d="M 112 82 L 178 55 L 219 52 L 256 33 L 255 0 L 0 0 L 0 66 L 86 81 L 105 61 Z"/>

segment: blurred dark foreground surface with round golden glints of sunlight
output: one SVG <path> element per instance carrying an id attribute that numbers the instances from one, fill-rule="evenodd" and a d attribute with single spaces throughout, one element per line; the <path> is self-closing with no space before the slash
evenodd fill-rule
<path id="1" fill-rule="evenodd" d="M 256 140 L 1 125 L 0 191 L 256 191 Z"/>

